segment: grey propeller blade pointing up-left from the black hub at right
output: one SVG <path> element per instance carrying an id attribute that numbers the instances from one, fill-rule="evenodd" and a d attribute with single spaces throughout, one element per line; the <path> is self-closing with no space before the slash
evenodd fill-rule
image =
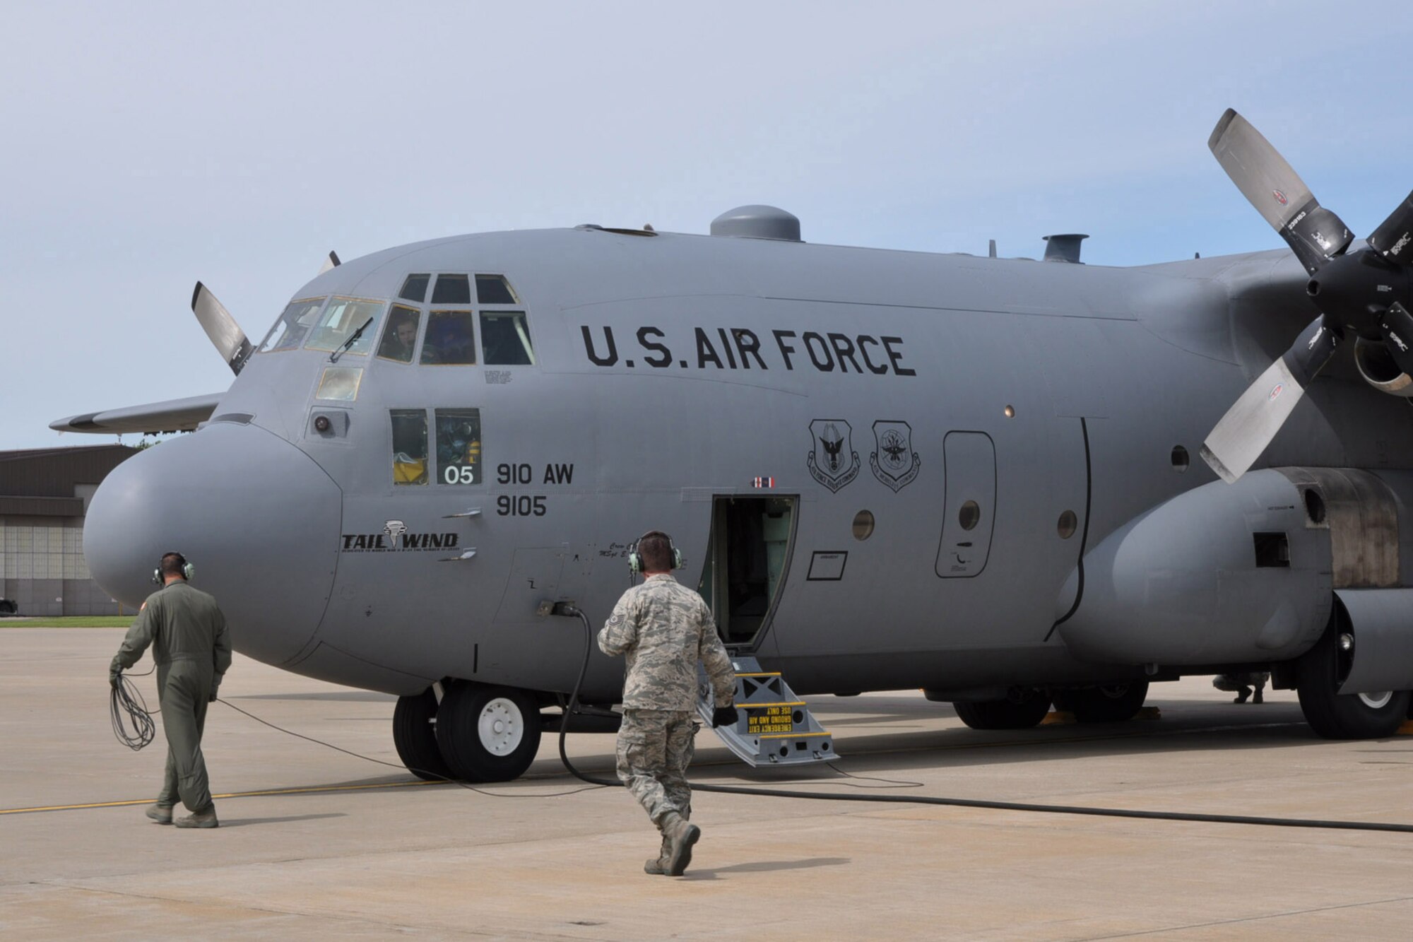
<path id="1" fill-rule="evenodd" d="M 1256 212 L 1280 233 L 1311 274 L 1349 248 L 1354 236 L 1320 205 L 1300 174 L 1251 122 L 1226 109 L 1207 140 L 1217 163 Z"/>

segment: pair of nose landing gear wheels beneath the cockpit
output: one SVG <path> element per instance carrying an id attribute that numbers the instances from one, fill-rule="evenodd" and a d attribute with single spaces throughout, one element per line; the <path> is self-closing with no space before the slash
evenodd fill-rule
<path id="1" fill-rule="evenodd" d="M 397 699 L 393 743 L 413 775 L 427 781 L 509 782 L 540 750 L 540 706 L 514 687 L 469 680 Z"/>

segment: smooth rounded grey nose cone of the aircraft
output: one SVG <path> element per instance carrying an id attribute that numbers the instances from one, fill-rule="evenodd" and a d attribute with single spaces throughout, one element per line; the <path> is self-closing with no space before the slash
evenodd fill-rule
<path id="1" fill-rule="evenodd" d="M 196 567 L 236 651 L 283 663 L 308 644 L 333 586 L 338 485 L 307 454 L 256 426 L 216 423 L 133 455 L 89 502 L 83 554 L 134 610 L 161 554 Z"/>

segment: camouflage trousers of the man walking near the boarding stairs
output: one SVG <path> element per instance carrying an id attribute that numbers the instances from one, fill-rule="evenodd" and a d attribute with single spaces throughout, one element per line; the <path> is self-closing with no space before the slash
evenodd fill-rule
<path id="1" fill-rule="evenodd" d="M 697 723 L 687 710 L 623 710 L 617 738 L 617 777 L 658 827 L 668 812 L 691 815 Z"/>

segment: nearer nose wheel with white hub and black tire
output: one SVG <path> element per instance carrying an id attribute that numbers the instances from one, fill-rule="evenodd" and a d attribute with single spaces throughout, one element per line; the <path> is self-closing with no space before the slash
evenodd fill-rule
<path id="1" fill-rule="evenodd" d="M 509 782 L 534 761 L 540 726 L 538 704 L 527 692 L 461 680 L 437 713 L 437 747 L 456 778 Z"/>

